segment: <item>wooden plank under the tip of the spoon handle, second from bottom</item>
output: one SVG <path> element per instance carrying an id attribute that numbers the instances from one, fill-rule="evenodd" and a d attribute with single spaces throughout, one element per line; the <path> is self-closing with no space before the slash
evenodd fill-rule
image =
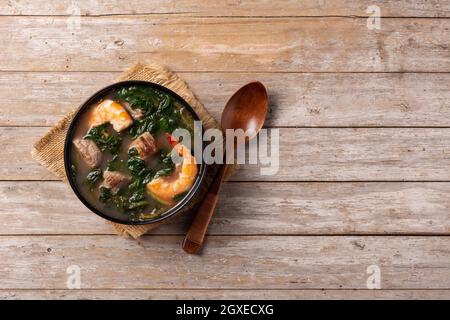
<path id="1" fill-rule="evenodd" d="M 202 255 L 182 237 L 3 237 L 0 287 L 66 289 L 366 289 L 377 265 L 382 289 L 449 289 L 450 237 L 210 236 Z"/>

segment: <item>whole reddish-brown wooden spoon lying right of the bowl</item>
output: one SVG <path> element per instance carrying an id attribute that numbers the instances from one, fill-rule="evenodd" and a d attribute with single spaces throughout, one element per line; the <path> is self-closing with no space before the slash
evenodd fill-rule
<path id="1" fill-rule="evenodd" d="M 246 136 L 246 140 L 252 139 L 261 130 L 268 109 L 269 99 L 266 88 L 261 82 L 251 82 L 240 88 L 228 100 L 222 112 L 222 130 L 251 130 L 253 134 Z M 206 230 L 216 209 L 220 187 L 228 168 L 229 165 L 226 163 L 220 166 L 205 199 L 197 210 L 182 245 L 183 250 L 187 253 L 198 253 L 203 245 Z"/>

